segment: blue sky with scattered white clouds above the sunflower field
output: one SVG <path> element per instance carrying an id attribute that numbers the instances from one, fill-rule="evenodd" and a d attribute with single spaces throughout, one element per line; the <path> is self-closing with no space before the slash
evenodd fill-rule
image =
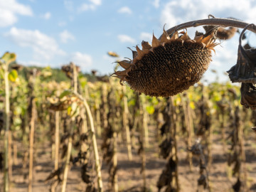
<path id="1" fill-rule="evenodd" d="M 235 17 L 256 23 L 255 0 L 0 0 L 0 54 L 17 54 L 23 65 L 50 65 L 59 68 L 73 61 L 84 72 L 113 71 L 107 51 L 131 58 L 127 47 L 142 40 L 151 42 L 152 33 L 186 21 L 215 17 Z M 200 30 L 201 28 L 197 28 Z M 195 29 L 188 29 L 193 36 Z M 252 41 L 255 40 L 251 34 Z M 213 53 L 210 69 L 223 72 L 236 62 L 238 37 L 221 43 Z M 253 46 L 256 43 L 250 42 Z M 215 75 L 206 73 L 206 79 Z"/>

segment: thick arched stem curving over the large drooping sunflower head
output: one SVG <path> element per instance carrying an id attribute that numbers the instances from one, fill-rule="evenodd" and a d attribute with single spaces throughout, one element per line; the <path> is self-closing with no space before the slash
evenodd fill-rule
<path id="1" fill-rule="evenodd" d="M 245 28 L 245 26 L 249 25 L 250 23 L 246 23 L 244 21 L 239 21 L 233 18 L 206 18 L 196 21 L 189 21 L 186 23 L 181 23 L 178 26 L 174 26 L 169 28 L 166 32 L 171 36 L 175 31 L 184 29 L 184 28 L 191 28 L 197 26 L 223 26 L 223 27 L 236 27 L 236 28 Z M 256 33 L 256 26 L 252 25 L 248 28 L 248 30 Z M 159 39 L 161 36 L 159 37 Z"/>

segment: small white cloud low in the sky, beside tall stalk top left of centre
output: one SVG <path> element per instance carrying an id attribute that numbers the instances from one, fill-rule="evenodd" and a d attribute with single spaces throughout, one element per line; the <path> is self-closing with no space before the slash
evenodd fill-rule
<path id="1" fill-rule="evenodd" d="M 92 65 L 92 56 L 86 53 L 75 52 L 71 54 L 71 61 L 84 68 Z"/>

